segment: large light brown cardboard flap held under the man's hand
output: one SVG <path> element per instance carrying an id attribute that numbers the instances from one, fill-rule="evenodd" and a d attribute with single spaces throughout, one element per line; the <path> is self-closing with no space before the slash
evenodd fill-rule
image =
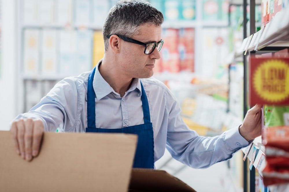
<path id="1" fill-rule="evenodd" d="M 131 134 L 44 133 L 27 162 L 0 131 L 0 191 L 127 191 L 136 143 Z"/>

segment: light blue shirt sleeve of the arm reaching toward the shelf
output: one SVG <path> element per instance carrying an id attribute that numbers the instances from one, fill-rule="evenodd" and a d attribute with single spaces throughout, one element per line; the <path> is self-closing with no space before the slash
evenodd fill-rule
<path id="1" fill-rule="evenodd" d="M 180 116 L 181 109 L 168 90 L 168 133 L 166 148 L 172 157 L 194 168 L 206 168 L 232 157 L 249 142 L 239 133 L 239 127 L 214 137 L 199 136 L 190 130 Z"/>

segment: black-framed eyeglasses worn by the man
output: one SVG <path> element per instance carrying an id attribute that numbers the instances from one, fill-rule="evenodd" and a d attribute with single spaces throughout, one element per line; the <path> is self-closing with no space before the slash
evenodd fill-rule
<path id="1" fill-rule="evenodd" d="M 164 44 L 164 40 L 162 40 L 162 39 L 157 43 L 155 43 L 155 42 L 143 43 L 143 42 L 138 41 L 136 39 L 131 39 L 129 37 L 125 37 L 125 36 L 119 35 L 119 34 L 106 35 L 106 37 L 110 38 L 110 36 L 112 36 L 112 35 L 117 35 L 119 38 L 123 39 L 126 42 L 135 43 L 135 44 L 144 46 L 145 47 L 144 48 L 144 54 L 146 54 L 146 55 L 151 54 L 155 50 L 156 47 L 158 48 L 158 51 L 160 51 L 162 48 L 162 45 Z"/>

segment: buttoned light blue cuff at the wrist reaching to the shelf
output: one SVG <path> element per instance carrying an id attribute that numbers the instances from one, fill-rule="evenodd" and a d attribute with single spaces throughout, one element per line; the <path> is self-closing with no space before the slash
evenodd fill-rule
<path id="1" fill-rule="evenodd" d="M 225 133 L 225 142 L 233 150 L 239 150 L 242 147 L 249 145 L 249 142 L 240 135 L 239 126 L 229 129 Z"/>

